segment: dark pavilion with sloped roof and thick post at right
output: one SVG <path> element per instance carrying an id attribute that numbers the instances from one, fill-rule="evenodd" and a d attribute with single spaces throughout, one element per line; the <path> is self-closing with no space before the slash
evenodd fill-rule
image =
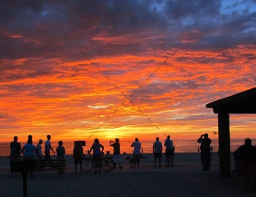
<path id="1" fill-rule="evenodd" d="M 256 87 L 210 102 L 206 107 L 218 113 L 219 175 L 230 176 L 229 113 L 256 113 Z"/>

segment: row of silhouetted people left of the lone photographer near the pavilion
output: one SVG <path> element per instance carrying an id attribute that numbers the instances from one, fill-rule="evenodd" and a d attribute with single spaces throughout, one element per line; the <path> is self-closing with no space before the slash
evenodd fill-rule
<path id="1" fill-rule="evenodd" d="M 51 145 L 51 135 L 47 135 L 47 140 L 45 141 L 44 145 L 44 154 L 42 151 L 42 143 L 43 139 L 39 139 L 38 144 L 35 146 L 33 144 L 32 135 L 28 136 L 27 143 L 21 147 L 21 143 L 18 142 L 18 136 L 14 136 L 14 141 L 10 143 L 11 148 L 11 154 L 10 154 L 10 164 L 11 164 L 11 173 L 13 175 L 14 172 L 14 162 L 12 161 L 18 161 L 21 160 L 21 153 L 24 154 L 24 159 L 35 159 L 37 158 L 39 160 L 39 169 L 43 169 L 44 162 L 47 160 L 51 160 L 51 154 L 50 151 L 52 151 L 55 154 L 55 151 Z M 56 158 L 57 159 L 65 159 L 65 147 L 63 146 L 63 141 L 59 140 L 58 145 L 56 148 Z M 115 138 L 115 141 L 110 140 L 109 145 L 113 147 L 113 161 L 114 161 L 114 168 L 116 167 L 117 163 L 119 168 L 121 169 L 121 159 L 120 159 L 120 143 L 119 139 Z M 174 146 L 173 141 L 170 139 L 170 135 L 167 136 L 167 139 L 165 140 L 164 145 L 166 146 L 165 154 L 166 154 L 166 166 L 173 166 L 173 155 L 174 155 Z M 140 158 L 142 158 L 142 152 L 141 152 L 141 142 L 136 137 L 135 141 L 131 144 L 131 147 L 134 147 L 133 151 L 133 157 L 132 157 L 132 167 L 137 166 L 140 167 Z M 95 138 L 94 143 L 91 145 L 91 148 L 88 150 L 87 153 L 90 153 L 93 150 L 93 160 L 94 160 L 94 173 L 97 172 L 97 170 L 100 172 L 100 165 L 101 165 L 101 154 L 104 150 L 104 146 L 99 143 L 99 139 Z M 162 158 L 162 143 L 159 141 L 159 137 L 156 138 L 156 141 L 153 144 L 153 153 L 155 158 L 155 167 L 157 158 L 159 161 L 159 166 L 161 167 L 161 158 Z M 82 163 L 83 163 L 83 147 L 81 146 L 80 141 L 76 141 L 75 146 L 73 148 L 73 157 L 74 157 L 74 164 L 75 164 L 75 173 L 77 173 L 77 166 L 79 164 L 80 167 L 80 173 L 82 173 Z M 170 164 L 171 159 L 171 164 Z M 31 171 L 31 176 L 33 177 L 33 171 Z M 14 175 L 16 176 L 16 174 Z"/>

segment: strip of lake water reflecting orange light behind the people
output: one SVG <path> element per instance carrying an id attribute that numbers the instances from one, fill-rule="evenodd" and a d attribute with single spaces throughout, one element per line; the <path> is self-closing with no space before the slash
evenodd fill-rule
<path id="1" fill-rule="evenodd" d="M 133 141 L 120 141 L 120 151 L 121 153 L 132 153 L 133 147 L 131 147 Z M 144 153 L 152 153 L 153 152 L 153 143 L 152 140 L 141 140 L 142 149 Z M 164 141 L 161 141 L 164 145 Z M 197 152 L 197 148 L 200 147 L 200 144 L 197 143 L 196 140 L 174 140 L 175 144 L 175 152 Z M 100 143 L 104 146 L 104 151 L 109 150 L 110 154 L 113 153 L 113 147 L 109 146 L 109 141 L 101 140 Z M 239 145 L 244 143 L 244 139 L 231 139 L 230 140 L 230 150 L 234 151 Z M 255 145 L 256 139 L 252 139 L 252 144 Z M 25 142 L 21 142 L 23 146 Z M 58 142 L 51 142 L 53 149 L 56 150 L 58 146 Z M 34 143 L 36 145 L 36 143 Z M 73 154 L 74 141 L 63 141 L 63 146 L 66 149 L 66 154 Z M 84 153 L 86 153 L 87 149 L 90 149 L 91 142 L 86 143 L 86 146 L 83 146 Z M 218 140 L 212 140 L 211 146 L 214 148 L 214 152 L 218 150 Z M 42 144 L 42 148 L 44 149 L 44 143 Z M 163 147 L 163 149 L 165 149 Z M 0 142 L 0 156 L 9 156 L 10 155 L 10 142 Z"/>

